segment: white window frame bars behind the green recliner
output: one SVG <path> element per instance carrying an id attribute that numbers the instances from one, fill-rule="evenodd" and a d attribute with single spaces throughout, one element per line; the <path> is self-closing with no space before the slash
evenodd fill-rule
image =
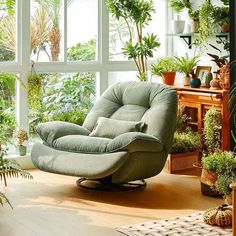
<path id="1" fill-rule="evenodd" d="M 104 0 L 98 1 L 98 32 L 97 32 L 97 60 L 91 62 L 67 62 L 67 0 L 64 1 L 64 61 L 63 62 L 36 62 L 37 73 L 73 73 L 96 72 L 96 92 L 100 96 L 108 87 L 109 72 L 137 71 L 133 61 L 109 60 L 109 14 Z M 17 0 L 17 52 L 15 62 L 0 62 L 2 73 L 16 73 L 27 84 L 28 75 L 31 72 L 30 61 L 30 0 Z M 166 2 L 166 22 L 170 19 Z M 169 25 L 165 27 L 168 32 Z M 170 40 L 166 39 L 166 53 L 170 52 Z M 25 130 L 29 130 L 29 109 L 27 102 L 27 90 L 20 87 L 17 82 L 16 92 L 16 118 L 17 124 Z"/>

